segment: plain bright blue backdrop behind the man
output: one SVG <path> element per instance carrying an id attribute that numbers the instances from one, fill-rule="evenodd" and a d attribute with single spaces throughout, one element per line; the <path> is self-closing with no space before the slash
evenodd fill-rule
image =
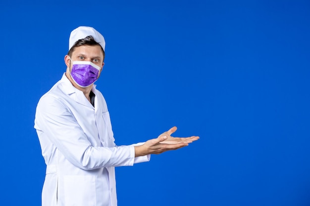
<path id="1" fill-rule="evenodd" d="M 116 168 L 119 206 L 310 205 L 308 0 L 2 0 L 0 19 L 0 205 L 41 204 L 35 108 L 78 26 L 106 41 L 116 144 L 201 137 Z"/>

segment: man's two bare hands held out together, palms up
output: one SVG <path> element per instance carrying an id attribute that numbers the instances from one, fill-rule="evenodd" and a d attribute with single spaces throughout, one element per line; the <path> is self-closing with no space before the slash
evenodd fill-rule
<path id="1" fill-rule="evenodd" d="M 198 136 L 191 137 L 172 137 L 171 134 L 177 130 L 174 126 L 168 131 L 160 134 L 155 139 L 146 141 L 143 145 L 135 146 L 135 157 L 160 154 L 169 150 L 177 150 L 188 146 L 189 143 L 199 139 Z"/>

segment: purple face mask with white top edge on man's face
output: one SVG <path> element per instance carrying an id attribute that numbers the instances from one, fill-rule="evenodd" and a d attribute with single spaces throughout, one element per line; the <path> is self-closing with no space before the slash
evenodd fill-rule
<path id="1" fill-rule="evenodd" d="M 88 61 L 72 61 L 72 64 L 70 75 L 77 85 L 87 87 L 98 79 L 100 66 Z"/>

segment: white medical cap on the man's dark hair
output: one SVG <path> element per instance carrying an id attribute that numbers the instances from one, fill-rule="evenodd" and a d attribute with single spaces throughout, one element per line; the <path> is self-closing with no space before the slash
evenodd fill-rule
<path id="1" fill-rule="evenodd" d="M 73 30 L 70 34 L 69 38 L 69 50 L 74 45 L 74 43 L 78 40 L 84 39 L 87 36 L 92 36 L 95 41 L 97 41 L 101 47 L 105 48 L 105 41 L 103 36 L 96 31 L 93 27 L 78 27 L 75 30 Z"/>

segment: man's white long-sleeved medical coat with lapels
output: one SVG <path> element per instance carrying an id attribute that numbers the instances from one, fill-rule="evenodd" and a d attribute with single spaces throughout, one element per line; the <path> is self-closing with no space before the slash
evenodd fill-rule
<path id="1" fill-rule="evenodd" d="M 114 167 L 150 160 L 135 158 L 134 145 L 115 146 L 106 102 L 95 85 L 92 91 L 95 107 L 64 74 L 38 103 L 47 165 L 42 206 L 117 206 Z"/>

